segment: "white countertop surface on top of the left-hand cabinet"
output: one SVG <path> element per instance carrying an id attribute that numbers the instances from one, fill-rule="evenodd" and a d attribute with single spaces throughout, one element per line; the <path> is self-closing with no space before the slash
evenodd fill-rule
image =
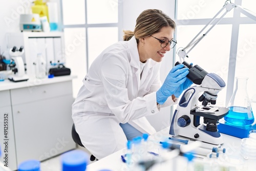
<path id="1" fill-rule="evenodd" d="M 5 79 L 4 81 L 0 81 L 0 91 L 26 88 L 26 87 L 33 87 L 33 86 L 40 86 L 40 85 L 56 83 L 56 82 L 69 81 L 69 80 L 72 80 L 76 77 L 77 76 L 74 76 L 74 75 L 66 75 L 66 76 L 57 76 L 57 77 L 53 77 L 53 78 L 44 78 L 44 79 L 29 78 L 29 80 L 21 81 L 21 82 L 13 82 L 13 81 L 10 81 L 8 79 Z"/>

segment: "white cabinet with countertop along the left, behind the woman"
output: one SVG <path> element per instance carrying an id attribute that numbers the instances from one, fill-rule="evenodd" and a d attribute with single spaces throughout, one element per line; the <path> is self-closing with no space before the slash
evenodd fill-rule
<path id="1" fill-rule="evenodd" d="M 44 161 L 76 148 L 72 139 L 72 79 L 76 76 L 0 82 L 1 161 Z"/>

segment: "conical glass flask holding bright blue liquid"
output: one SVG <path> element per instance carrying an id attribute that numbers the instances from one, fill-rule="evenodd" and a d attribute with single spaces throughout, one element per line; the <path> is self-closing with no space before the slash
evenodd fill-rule
<path id="1" fill-rule="evenodd" d="M 236 89 L 228 103 L 229 112 L 224 120 L 236 126 L 247 126 L 254 122 L 250 99 L 247 94 L 247 77 L 236 77 Z"/>

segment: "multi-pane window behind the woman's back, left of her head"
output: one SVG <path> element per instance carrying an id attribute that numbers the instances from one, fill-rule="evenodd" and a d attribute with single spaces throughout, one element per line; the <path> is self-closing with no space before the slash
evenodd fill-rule
<path id="1" fill-rule="evenodd" d="M 73 79 L 76 97 L 93 60 L 118 41 L 118 0 L 61 0 L 61 4 L 66 66 L 77 76 Z"/>

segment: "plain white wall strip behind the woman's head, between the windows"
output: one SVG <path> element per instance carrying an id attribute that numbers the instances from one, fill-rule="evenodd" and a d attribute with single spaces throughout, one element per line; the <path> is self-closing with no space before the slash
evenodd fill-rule
<path id="1" fill-rule="evenodd" d="M 136 25 L 136 19 L 139 14 L 146 9 L 159 9 L 174 19 L 175 2 L 169 0 L 129 0 L 123 3 L 123 29 L 133 31 Z M 173 50 L 166 53 L 161 66 L 161 80 L 164 81 L 166 75 L 173 67 Z M 170 125 L 171 111 L 170 107 L 162 108 L 160 114 L 147 117 L 157 131 Z"/>

